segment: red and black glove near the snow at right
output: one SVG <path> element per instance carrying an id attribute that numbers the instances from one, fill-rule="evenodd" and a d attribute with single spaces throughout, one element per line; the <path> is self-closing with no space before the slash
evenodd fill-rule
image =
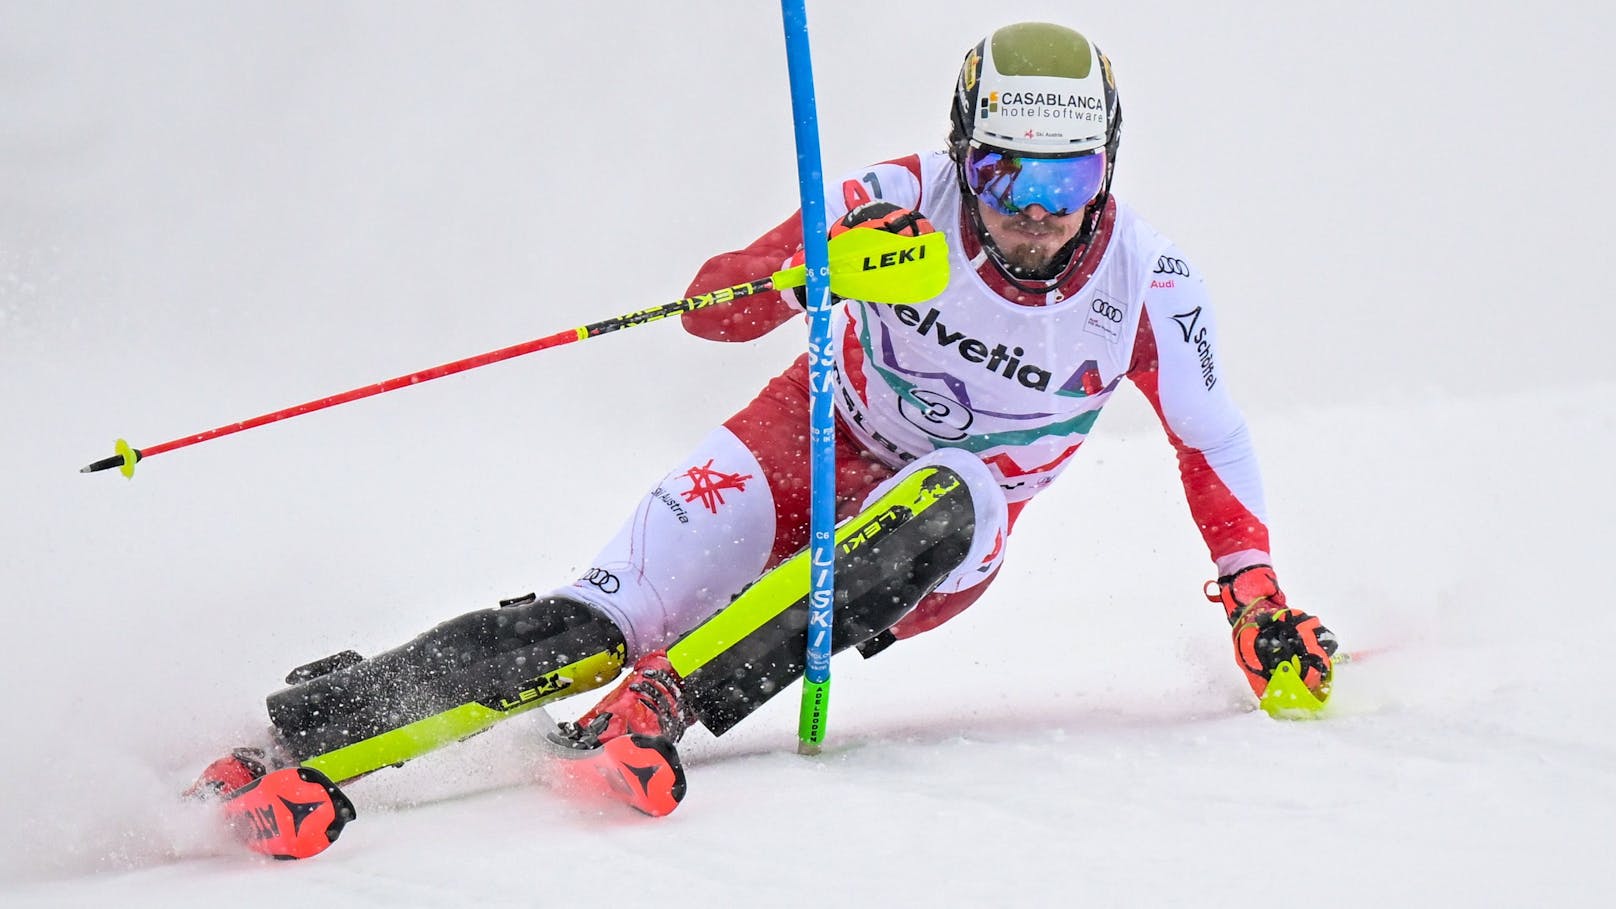
<path id="1" fill-rule="evenodd" d="M 1307 691 L 1320 700 L 1330 694 L 1330 658 L 1335 634 L 1315 616 L 1285 605 L 1285 592 L 1273 568 L 1252 564 L 1235 574 L 1207 582 L 1207 600 L 1223 603 L 1223 613 L 1235 628 L 1235 662 L 1246 673 L 1251 691 L 1260 699 L 1269 678 L 1280 663 L 1296 658 Z"/>

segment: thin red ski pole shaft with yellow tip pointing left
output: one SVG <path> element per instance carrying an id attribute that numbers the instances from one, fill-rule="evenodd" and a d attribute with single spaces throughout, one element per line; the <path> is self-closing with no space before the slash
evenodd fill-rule
<path id="1" fill-rule="evenodd" d="M 543 338 L 535 338 L 520 345 L 512 345 L 509 348 L 501 348 L 498 351 L 490 351 L 486 354 L 477 354 L 465 359 L 457 359 L 454 362 L 446 362 L 443 366 L 435 366 L 431 369 L 423 369 L 420 372 L 410 372 L 409 375 L 399 375 L 396 378 L 388 378 L 386 382 L 377 382 L 375 385 L 365 385 L 362 388 L 352 388 L 339 395 L 330 395 L 326 398 L 318 398 L 315 401 L 305 401 L 291 408 L 284 408 L 275 412 L 262 414 L 247 421 L 226 424 L 221 427 L 210 429 L 207 432 L 199 432 L 196 435 L 187 435 L 184 438 L 175 438 L 171 442 L 163 442 L 160 445 L 150 445 L 147 448 L 129 448 L 129 443 L 118 440 L 116 454 L 112 458 L 102 458 L 92 464 L 79 469 L 81 474 L 94 474 L 97 471 L 107 471 L 110 467 L 118 467 L 123 476 L 134 476 L 134 464 L 144 458 L 152 458 L 154 454 L 162 454 L 165 451 L 173 451 L 176 448 L 186 448 L 189 445 L 197 445 L 218 438 L 221 435 L 233 435 L 249 429 L 257 429 L 265 424 L 297 417 L 302 414 L 310 414 L 314 411 L 323 411 L 326 408 L 335 408 L 338 404 L 346 404 L 349 401 L 357 401 L 360 398 L 370 398 L 381 395 L 385 391 L 393 391 L 398 388 L 406 388 L 409 385 L 420 385 L 422 382 L 430 382 L 433 378 L 443 378 L 444 375 L 454 375 L 456 372 L 465 372 L 469 369 L 477 369 L 480 366 L 488 366 L 499 361 L 507 361 L 511 357 L 519 357 L 522 354 L 530 354 L 535 351 L 543 351 L 548 348 L 558 348 L 561 345 L 570 345 L 574 341 L 582 341 L 585 338 L 593 338 L 596 335 L 604 335 L 608 332 L 616 332 L 619 328 L 630 328 L 633 325 L 643 325 L 646 322 L 656 322 L 659 319 L 667 319 L 669 315 L 679 315 L 682 312 L 690 312 L 693 309 L 703 309 L 708 306 L 716 306 L 719 302 L 727 302 L 740 296 L 751 296 L 756 293 L 769 291 L 776 288 L 776 277 L 758 278 L 745 285 L 735 285 L 705 294 L 688 296 L 685 299 L 675 299 L 674 302 L 666 302 L 663 306 L 653 306 L 651 309 L 642 309 L 640 312 L 629 312 L 625 315 L 616 315 L 603 322 L 591 322 L 588 325 L 580 325 L 577 328 L 567 328 L 566 332 L 556 332 L 554 335 L 546 335 Z"/>

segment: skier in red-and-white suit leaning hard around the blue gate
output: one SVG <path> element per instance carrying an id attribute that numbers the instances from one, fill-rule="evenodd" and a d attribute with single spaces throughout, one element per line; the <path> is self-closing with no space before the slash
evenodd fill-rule
<path id="1" fill-rule="evenodd" d="M 1202 277 L 1110 192 L 1122 136 L 1110 61 L 1062 26 L 997 29 L 966 53 L 950 120 L 947 150 L 860 170 L 826 197 L 832 236 L 941 230 L 952 257 L 936 299 L 835 309 L 847 534 L 835 645 L 871 657 L 976 602 L 1021 509 L 1071 463 L 1126 377 L 1178 453 L 1218 576 L 1206 595 L 1223 607 L 1252 691 L 1262 697 L 1288 666 L 1327 697 L 1335 639 L 1278 586 L 1257 459 Z M 690 294 L 802 262 L 802 239 L 793 214 L 708 260 Z M 800 315 L 800 293 L 690 311 L 684 327 L 747 341 Z M 663 767 L 671 778 L 658 794 L 643 786 L 638 807 L 671 810 L 684 786 L 672 742 L 685 728 L 722 734 L 803 671 L 805 590 L 787 569 L 808 542 L 806 425 L 798 357 L 645 495 L 575 582 L 368 660 L 344 652 L 296 670 L 268 699 L 273 742 L 213 762 L 192 793 L 231 804 L 265 788 L 241 801 L 263 812 L 276 780 L 275 793 L 296 789 L 291 802 L 322 802 L 305 839 L 263 831 L 257 844 L 314 854 L 352 817 L 333 780 L 601 687 L 627 665 L 616 689 L 553 736 L 580 754 L 611 747 Z"/>

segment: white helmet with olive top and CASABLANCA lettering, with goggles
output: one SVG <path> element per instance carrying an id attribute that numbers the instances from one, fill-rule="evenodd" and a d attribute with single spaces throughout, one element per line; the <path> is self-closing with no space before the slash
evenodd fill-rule
<path id="1" fill-rule="evenodd" d="M 1122 139 L 1110 60 L 1063 26 L 1005 26 L 965 55 L 950 120 L 949 154 L 989 259 L 1021 290 L 1052 290 L 1081 260 L 1110 197 Z M 1029 275 L 1004 262 L 983 230 L 981 204 L 1005 214 L 1083 207 L 1088 217 L 1050 273 Z"/>

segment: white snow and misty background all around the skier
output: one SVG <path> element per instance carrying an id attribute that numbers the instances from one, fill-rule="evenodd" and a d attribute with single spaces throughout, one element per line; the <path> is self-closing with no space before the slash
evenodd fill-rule
<path id="1" fill-rule="evenodd" d="M 566 581 L 802 343 L 646 327 L 76 472 L 675 299 L 793 207 L 774 5 L 551 6 L 0 2 L 0 904 L 1613 903 L 1590 2 L 810 3 L 832 171 L 941 141 L 1000 23 L 1110 53 L 1117 189 L 1210 275 L 1285 584 L 1364 653 L 1328 721 L 1249 712 L 1122 395 L 989 597 L 837 662 L 818 759 L 793 689 L 653 822 L 512 721 L 317 860 L 212 846 L 173 793 L 289 666 Z"/>

